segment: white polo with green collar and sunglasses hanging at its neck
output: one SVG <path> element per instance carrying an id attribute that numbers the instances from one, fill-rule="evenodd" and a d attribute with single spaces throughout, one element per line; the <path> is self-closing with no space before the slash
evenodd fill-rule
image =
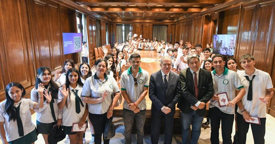
<path id="1" fill-rule="evenodd" d="M 135 87 L 134 76 L 131 72 L 132 66 L 127 70 L 124 71 L 121 75 L 121 90 L 126 91 L 127 95 L 129 96 L 132 102 L 135 102 L 140 97 L 141 93 L 143 92 L 143 87 L 149 87 L 149 73 L 146 70 L 139 68 L 138 74 L 135 78 L 137 78 L 138 86 Z M 124 100 L 123 103 L 124 109 L 129 109 L 128 103 Z M 138 104 L 138 108 L 140 110 L 146 109 L 146 100 L 145 98 Z"/>

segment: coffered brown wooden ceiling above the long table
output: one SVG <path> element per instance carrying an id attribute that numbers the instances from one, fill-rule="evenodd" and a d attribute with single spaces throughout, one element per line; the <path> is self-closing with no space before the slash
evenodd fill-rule
<path id="1" fill-rule="evenodd" d="M 229 0 L 74 0 L 106 18 L 174 20 Z"/>

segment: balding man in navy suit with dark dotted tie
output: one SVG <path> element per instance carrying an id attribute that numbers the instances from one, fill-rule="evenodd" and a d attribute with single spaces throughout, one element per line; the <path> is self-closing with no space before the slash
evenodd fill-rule
<path id="1" fill-rule="evenodd" d="M 160 126 L 164 117 L 164 143 L 172 143 L 175 105 L 180 97 L 179 75 L 170 71 L 172 60 L 164 56 L 160 60 L 161 70 L 153 73 L 149 83 L 149 98 L 152 100 L 151 142 L 157 144 Z"/>

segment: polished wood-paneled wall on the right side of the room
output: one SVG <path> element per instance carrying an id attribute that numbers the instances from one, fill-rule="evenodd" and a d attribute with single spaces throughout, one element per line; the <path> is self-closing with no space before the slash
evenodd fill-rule
<path id="1" fill-rule="evenodd" d="M 212 34 L 237 34 L 234 58 L 239 61 L 245 53 L 254 55 L 255 67 L 268 72 L 275 85 L 275 1 L 245 1 L 227 7 L 211 16 L 205 13 L 176 23 L 175 41 L 183 39 L 192 45 L 201 43 L 204 48 L 212 41 Z M 275 117 L 275 98 L 267 108 L 267 113 Z"/>

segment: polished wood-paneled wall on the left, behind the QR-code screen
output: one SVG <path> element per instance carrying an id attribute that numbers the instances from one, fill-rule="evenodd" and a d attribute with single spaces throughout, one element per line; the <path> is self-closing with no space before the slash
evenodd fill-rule
<path id="1" fill-rule="evenodd" d="M 35 84 L 36 70 L 47 66 L 52 74 L 61 69 L 65 59 L 79 64 L 77 53 L 64 55 L 62 33 L 76 32 L 75 10 L 60 1 L 5 0 L 0 3 L 0 101 L 5 99 L 5 86 L 21 83 L 26 98 Z M 95 18 L 87 18 L 90 64 L 94 63 Z M 106 42 L 102 21 L 103 42 Z"/>

